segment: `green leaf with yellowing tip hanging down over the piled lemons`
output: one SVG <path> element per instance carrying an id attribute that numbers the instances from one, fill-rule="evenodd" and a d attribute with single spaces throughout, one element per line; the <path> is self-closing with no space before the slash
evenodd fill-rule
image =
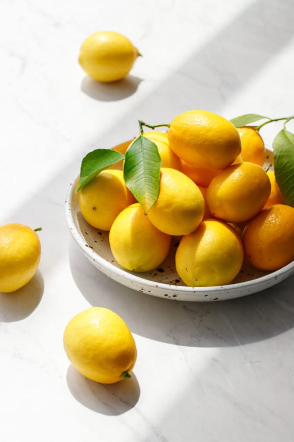
<path id="1" fill-rule="evenodd" d="M 159 193 L 161 159 L 153 141 L 140 135 L 125 152 L 123 176 L 129 190 L 147 214 Z"/>

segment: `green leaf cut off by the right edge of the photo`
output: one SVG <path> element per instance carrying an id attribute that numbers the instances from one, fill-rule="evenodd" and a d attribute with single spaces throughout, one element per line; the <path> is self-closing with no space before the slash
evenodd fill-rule
<path id="1" fill-rule="evenodd" d="M 294 134 L 282 129 L 272 142 L 273 166 L 283 200 L 294 207 Z"/>

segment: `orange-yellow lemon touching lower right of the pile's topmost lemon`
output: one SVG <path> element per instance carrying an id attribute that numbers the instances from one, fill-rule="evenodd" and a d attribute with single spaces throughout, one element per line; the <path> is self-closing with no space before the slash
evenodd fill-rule
<path id="1" fill-rule="evenodd" d="M 254 163 L 243 162 L 223 169 L 208 186 L 211 214 L 228 222 L 247 221 L 260 212 L 270 195 L 270 179 Z"/>

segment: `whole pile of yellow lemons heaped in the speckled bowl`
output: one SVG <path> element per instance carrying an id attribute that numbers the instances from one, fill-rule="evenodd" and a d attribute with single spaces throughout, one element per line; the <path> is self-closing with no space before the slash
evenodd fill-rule
<path id="1" fill-rule="evenodd" d="M 176 116 L 167 133 L 144 134 L 161 157 L 160 190 L 147 215 L 123 180 L 122 164 L 79 191 L 93 227 L 109 230 L 116 261 L 132 272 L 157 268 L 172 236 L 176 270 L 188 286 L 230 283 L 246 259 L 262 270 L 294 260 L 294 208 L 284 204 L 253 127 L 236 128 L 209 111 Z M 127 141 L 114 149 L 122 153 Z"/>

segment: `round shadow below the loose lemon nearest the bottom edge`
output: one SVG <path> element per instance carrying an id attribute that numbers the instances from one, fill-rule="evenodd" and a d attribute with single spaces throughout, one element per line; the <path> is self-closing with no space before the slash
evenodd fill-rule
<path id="1" fill-rule="evenodd" d="M 132 409 L 139 400 L 140 387 L 134 373 L 115 384 L 98 384 L 70 365 L 66 376 L 73 397 L 96 413 L 117 416 Z"/>

